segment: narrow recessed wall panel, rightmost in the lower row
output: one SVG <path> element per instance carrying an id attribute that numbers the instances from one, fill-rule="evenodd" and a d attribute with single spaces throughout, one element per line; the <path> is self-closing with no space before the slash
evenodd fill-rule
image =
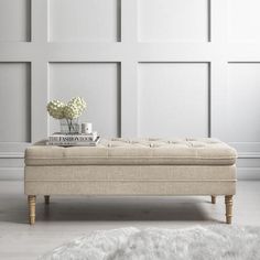
<path id="1" fill-rule="evenodd" d="M 227 140 L 260 142 L 260 63 L 229 63 Z"/>

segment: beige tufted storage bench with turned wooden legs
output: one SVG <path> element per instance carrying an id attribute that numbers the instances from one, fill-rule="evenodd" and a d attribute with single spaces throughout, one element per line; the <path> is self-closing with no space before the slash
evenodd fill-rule
<path id="1" fill-rule="evenodd" d="M 216 139 L 111 139 L 97 147 L 48 147 L 25 151 L 29 220 L 37 195 L 224 195 L 231 223 L 236 150 Z"/>

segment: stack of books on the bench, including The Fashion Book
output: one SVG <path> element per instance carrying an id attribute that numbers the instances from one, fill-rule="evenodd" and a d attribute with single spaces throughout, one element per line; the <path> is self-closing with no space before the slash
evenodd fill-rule
<path id="1" fill-rule="evenodd" d="M 78 134 L 63 134 L 55 132 L 48 137 L 48 145 L 61 147 L 96 147 L 100 137 L 97 132 L 78 133 Z"/>

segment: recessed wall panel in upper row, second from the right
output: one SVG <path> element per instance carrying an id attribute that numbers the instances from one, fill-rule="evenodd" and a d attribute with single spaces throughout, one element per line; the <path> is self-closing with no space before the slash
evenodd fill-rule
<path id="1" fill-rule="evenodd" d="M 140 41 L 208 41 L 208 0 L 138 0 L 138 3 Z"/>

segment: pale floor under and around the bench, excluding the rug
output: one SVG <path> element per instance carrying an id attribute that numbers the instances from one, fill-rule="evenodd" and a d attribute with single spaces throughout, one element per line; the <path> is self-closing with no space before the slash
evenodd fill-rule
<path id="1" fill-rule="evenodd" d="M 260 181 L 238 182 L 235 225 L 260 226 Z M 28 225 L 22 182 L 0 182 L 0 259 L 36 259 L 63 242 L 96 229 L 127 226 L 180 228 L 224 224 L 224 198 L 52 197 L 37 198 L 36 224 Z"/>

